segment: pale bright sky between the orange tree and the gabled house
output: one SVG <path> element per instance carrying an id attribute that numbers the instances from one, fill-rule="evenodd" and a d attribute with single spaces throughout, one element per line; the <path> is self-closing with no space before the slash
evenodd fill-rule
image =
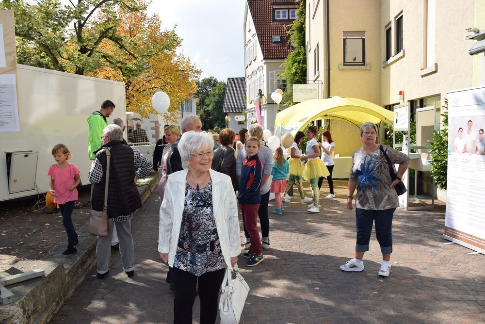
<path id="1" fill-rule="evenodd" d="M 162 19 L 162 28 L 183 39 L 181 52 L 202 70 L 201 78 L 226 81 L 244 76 L 244 0 L 153 0 L 149 13 Z"/>

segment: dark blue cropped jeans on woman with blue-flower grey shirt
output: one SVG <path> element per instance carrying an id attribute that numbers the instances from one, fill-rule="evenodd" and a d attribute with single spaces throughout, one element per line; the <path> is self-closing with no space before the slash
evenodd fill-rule
<path id="1" fill-rule="evenodd" d="M 383 254 L 392 253 L 392 216 L 396 209 L 381 211 L 356 208 L 357 252 L 369 251 L 372 223 L 375 223 L 375 236 Z"/>

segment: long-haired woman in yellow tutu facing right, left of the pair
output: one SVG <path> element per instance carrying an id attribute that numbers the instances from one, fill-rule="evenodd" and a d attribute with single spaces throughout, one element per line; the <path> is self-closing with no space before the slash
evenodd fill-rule
<path id="1" fill-rule="evenodd" d="M 288 160 L 288 163 L 290 163 L 290 179 L 288 180 L 288 183 L 286 185 L 285 193 L 283 194 L 283 201 L 290 201 L 285 198 L 286 194 L 288 194 L 288 191 L 290 190 L 291 186 L 293 186 L 293 183 L 296 182 L 298 185 L 298 191 L 300 192 L 300 197 L 301 197 L 301 202 L 302 203 L 307 203 L 311 201 L 311 198 L 305 197 L 305 193 L 303 192 L 303 162 L 300 160 L 300 158 L 303 156 L 302 155 L 302 150 L 300 147 L 301 142 L 303 142 L 303 139 L 305 138 L 305 134 L 303 131 L 298 131 L 296 132 L 294 142 L 290 146 L 290 159 Z"/>

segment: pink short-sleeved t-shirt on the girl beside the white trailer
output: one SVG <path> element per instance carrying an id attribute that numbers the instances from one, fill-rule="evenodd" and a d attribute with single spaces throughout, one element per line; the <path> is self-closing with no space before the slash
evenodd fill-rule
<path id="1" fill-rule="evenodd" d="M 73 163 L 69 163 L 64 169 L 58 168 L 57 164 L 50 166 L 47 175 L 54 179 L 54 190 L 57 195 L 57 197 L 54 197 L 54 202 L 56 204 L 78 200 L 78 190 L 74 188 L 73 191 L 69 191 L 69 186 L 76 183 L 74 176 L 79 173 L 79 169 Z"/>

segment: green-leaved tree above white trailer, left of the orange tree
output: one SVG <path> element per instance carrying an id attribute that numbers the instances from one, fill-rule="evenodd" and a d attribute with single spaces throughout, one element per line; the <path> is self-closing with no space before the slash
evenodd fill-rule
<path id="1" fill-rule="evenodd" d="M 37 65 L 59 71 L 84 75 L 104 65 L 123 65 L 123 59 L 103 51 L 101 44 L 108 40 L 135 57 L 130 50 L 135 39 L 122 35 L 117 11 L 139 12 L 146 3 L 139 0 L 3 0 L 1 9 L 15 14 L 18 63 Z M 129 69 L 140 74 L 145 60 L 131 62 Z"/>

